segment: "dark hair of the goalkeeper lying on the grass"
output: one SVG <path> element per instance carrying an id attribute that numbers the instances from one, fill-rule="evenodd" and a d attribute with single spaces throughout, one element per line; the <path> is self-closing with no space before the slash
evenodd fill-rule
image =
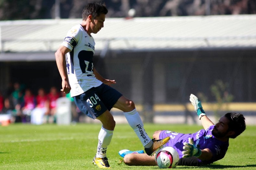
<path id="1" fill-rule="evenodd" d="M 228 130 L 235 132 L 230 138 L 236 138 L 246 129 L 245 118 L 241 113 L 226 113 L 224 116 L 229 120 Z"/>

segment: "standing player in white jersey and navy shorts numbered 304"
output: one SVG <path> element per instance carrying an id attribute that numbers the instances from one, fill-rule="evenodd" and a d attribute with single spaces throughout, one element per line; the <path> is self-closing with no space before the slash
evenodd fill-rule
<path id="1" fill-rule="evenodd" d="M 55 52 L 57 67 L 62 78 L 61 91 L 66 94 L 70 92 L 77 107 L 84 114 L 102 122 L 97 152 L 93 158 L 93 163 L 99 168 L 110 168 L 106 151 L 116 125 L 109 112 L 111 108 L 118 108 L 124 112 L 129 125 L 139 137 L 148 155 L 155 153 L 170 139 L 166 137 L 161 140 L 151 140 L 134 102 L 110 87 L 116 83 L 115 80 L 103 78 L 93 67 L 95 42 L 91 33 L 96 34 L 104 27 L 107 12 L 104 4 L 86 5 L 81 24 L 68 31 L 66 38 Z"/>

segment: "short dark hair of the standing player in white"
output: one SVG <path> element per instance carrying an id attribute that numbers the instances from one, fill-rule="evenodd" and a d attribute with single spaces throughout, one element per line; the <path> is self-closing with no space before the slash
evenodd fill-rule
<path id="1" fill-rule="evenodd" d="M 82 13 L 83 20 L 86 20 L 89 15 L 93 18 L 100 16 L 100 14 L 107 14 L 108 10 L 105 4 L 101 3 L 89 3 L 87 4 Z"/>

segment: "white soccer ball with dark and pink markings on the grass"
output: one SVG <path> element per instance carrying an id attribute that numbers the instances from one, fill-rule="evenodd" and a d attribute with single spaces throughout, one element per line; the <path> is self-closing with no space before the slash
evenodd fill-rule
<path id="1" fill-rule="evenodd" d="M 160 168 L 175 168 L 179 163 L 179 154 L 173 147 L 166 146 L 156 152 L 155 162 Z"/>

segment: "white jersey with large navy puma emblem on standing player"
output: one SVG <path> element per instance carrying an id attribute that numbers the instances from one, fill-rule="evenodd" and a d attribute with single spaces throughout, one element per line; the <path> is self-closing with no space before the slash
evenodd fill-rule
<path id="1" fill-rule="evenodd" d="M 62 45 L 71 50 L 66 54 L 71 97 L 101 85 L 102 82 L 93 74 L 92 57 L 95 50 L 93 37 L 79 24 L 68 31 Z"/>

